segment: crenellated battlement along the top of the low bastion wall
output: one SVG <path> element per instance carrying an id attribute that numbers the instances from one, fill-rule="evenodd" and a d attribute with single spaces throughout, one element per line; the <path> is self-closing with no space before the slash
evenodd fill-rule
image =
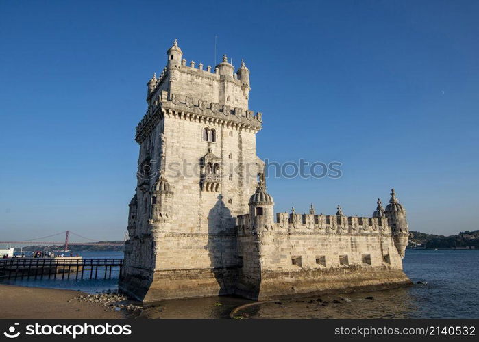
<path id="1" fill-rule="evenodd" d="M 315 215 L 297 213 L 277 213 L 276 222 L 271 226 L 254 227 L 250 214 L 236 217 L 238 235 L 254 232 L 296 232 L 309 234 L 391 234 L 387 218 L 367 218 L 358 216 Z"/>

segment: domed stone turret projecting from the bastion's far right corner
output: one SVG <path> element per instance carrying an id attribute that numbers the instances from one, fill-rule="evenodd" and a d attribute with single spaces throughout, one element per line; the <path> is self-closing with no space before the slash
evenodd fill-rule
<path id="1" fill-rule="evenodd" d="M 394 189 L 391 189 L 391 200 L 389 200 L 389 205 L 386 206 L 384 213 L 391 226 L 391 233 L 393 234 L 397 252 L 403 258 L 409 239 L 408 222 L 406 220 L 406 210 L 397 200 Z"/>

